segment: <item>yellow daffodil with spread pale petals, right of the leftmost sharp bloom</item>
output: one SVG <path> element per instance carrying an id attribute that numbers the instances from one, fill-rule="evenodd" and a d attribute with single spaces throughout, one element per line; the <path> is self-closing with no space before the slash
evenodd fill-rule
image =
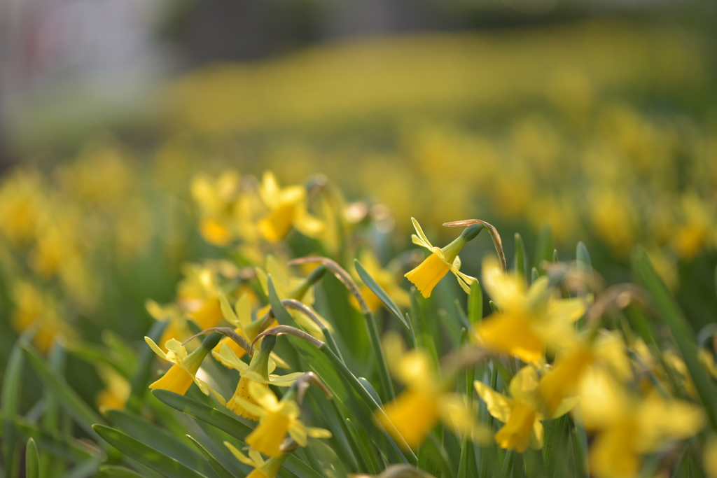
<path id="1" fill-rule="evenodd" d="M 252 413 L 252 411 L 247 410 L 242 405 L 244 402 L 249 402 L 258 406 L 254 398 L 249 394 L 250 383 L 259 383 L 263 388 L 267 388 L 270 383 L 275 386 L 289 387 L 292 386 L 296 379 L 303 373 L 289 373 L 284 376 L 271 375 L 276 368 L 276 363 L 270 357 L 270 351 L 274 347 L 275 342 L 276 338 L 273 335 L 267 335 L 262 338 L 261 348 L 254 353 L 249 365 L 239 360 L 237 355 L 234 354 L 232 349 L 227 347 L 227 345 L 222 345 L 219 353 L 212 353 L 214 358 L 217 358 L 224 366 L 239 371 L 240 378 L 239 383 L 237 383 L 237 390 L 234 391 L 234 396 L 227 402 L 227 408 L 235 414 L 254 421 L 258 421 L 260 418 L 259 415 Z M 240 398 L 243 400 L 239 400 Z"/>

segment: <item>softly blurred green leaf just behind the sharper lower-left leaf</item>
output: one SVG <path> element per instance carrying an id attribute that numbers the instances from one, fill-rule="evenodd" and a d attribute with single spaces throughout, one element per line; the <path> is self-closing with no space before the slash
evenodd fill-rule
<path id="1" fill-rule="evenodd" d="M 105 416 L 115 428 L 143 443 L 151 443 L 157 451 L 166 454 L 168 457 L 174 458 L 187 467 L 196 469 L 207 476 L 214 474 L 212 467 L 209 467 L 201 454 L 175 436 L 163 431 L 156 424 L 120 410 L 108 410 Z"/>

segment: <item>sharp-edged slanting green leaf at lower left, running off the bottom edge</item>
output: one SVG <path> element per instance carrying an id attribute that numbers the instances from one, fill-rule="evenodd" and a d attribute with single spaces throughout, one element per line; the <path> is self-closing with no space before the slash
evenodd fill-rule
<path id="1" fill-rule="evenodd" d="M 176 459 L 133 439 L 105 425 L 93 425 L 92 429 L 100 435 L 108 444 L 122 451 L 128 457 L 136 459 L 141 464 L 165 475 L 168 478 L 202 478 L 203 474 L 194 471 Z"/>

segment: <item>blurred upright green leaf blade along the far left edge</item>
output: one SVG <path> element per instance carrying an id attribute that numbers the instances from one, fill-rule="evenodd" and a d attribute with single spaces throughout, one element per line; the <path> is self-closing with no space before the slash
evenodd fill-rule
<path id="1" fill-rule="evenodd" d="M 17 416 L 22 388 L 22 350 L 16 343 L 12 348 L 2 383 L 2 415 Z M 14 421 L 3 421 L 2 452 L 5 476 L 11 477 L 19 445 Z"/>

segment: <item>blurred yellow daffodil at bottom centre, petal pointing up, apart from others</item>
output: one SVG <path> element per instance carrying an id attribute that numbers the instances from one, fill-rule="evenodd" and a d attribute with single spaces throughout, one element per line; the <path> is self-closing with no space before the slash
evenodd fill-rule
<path id="1" fill-rule="evenodd" d="M 436 376 L 427 353 L 417 349 L 404 352 L 402 339 L 393 333 L 384 337 L 384 350 L 391 372 L 406 388 L 386 403 L 384 414 L 376 414 L 376 419 L 399 444 L 405 441 L 409 448 L 417 448 L 438 421 L 473 439 L 483 438 L 465 397 L 447 391 L 449 384 Z"/>

